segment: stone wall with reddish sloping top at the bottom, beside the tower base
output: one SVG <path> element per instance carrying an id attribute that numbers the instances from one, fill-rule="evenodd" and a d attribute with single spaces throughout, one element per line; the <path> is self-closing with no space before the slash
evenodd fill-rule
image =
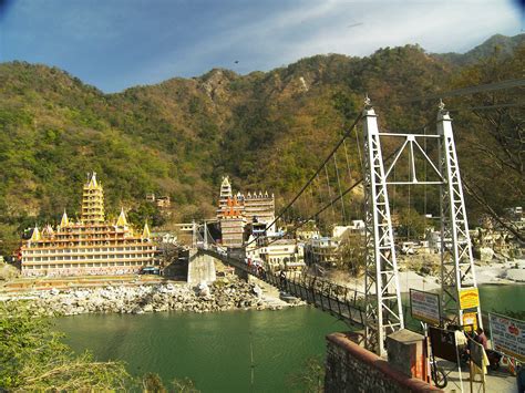
<path id="1" fill-rule="evenodd" d="M 325 391 L 331 392 L 442 392 L 424 381 L 404 375 L 343 333 L 327 337 Z"/>

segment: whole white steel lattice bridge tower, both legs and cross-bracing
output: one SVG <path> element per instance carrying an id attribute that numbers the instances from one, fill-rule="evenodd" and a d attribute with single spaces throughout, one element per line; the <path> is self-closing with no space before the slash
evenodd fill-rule
<path id="1" fill-rule="evenodd" d="M 440 103 L 437 135 L 380 133 L 377 115 L 367 97 L 364 102 L 364 215 L 367 227 L 366 338 L 367 349 L 385 354 L 384 341 L 391 332 L 404 328 L 398 265 L 390 217 L 388 185 L 440 185 L 441 195 L 441 323 L 465 324 L 465 311 L 476 314 L 482 325 L 477 300 L 474 260 L 472 257 L 465 200 L 460 166 L 452 132 L 452 118 Z M 381 152 L 381 136 L 403 138 L 388 170 Z M 418 139 L 437 139 L 437 163 L 434 165 Z M 388 180 L 404 149 L 409 151 L 409 180 Z M 418 179 L 414 152 L 420 162 L 430 165 L 437 180 Z M 461 304 L 460 296 L 470 291 L 476 301 Z M 473 290 L 473 291 L 472 291 Z M 465 308 L 467 308 L 465 310 Z"/>

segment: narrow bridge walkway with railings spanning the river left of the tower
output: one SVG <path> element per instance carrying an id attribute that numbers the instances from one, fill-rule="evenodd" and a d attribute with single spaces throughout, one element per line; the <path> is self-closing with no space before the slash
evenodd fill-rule
<path id="1" fill-rule="evenodd" d="M 219 259 L 224 263 L 257 277 L 291 296 L 305 300 L 322 311 L 347 322 L 352 327 L 364 327 L 364 293 L 354 289 L 336 285 L 301 272 L 292 272 L 282 279 L 275 271 L 266 269 L 258 272 L 245 261 L 219 254 L 213 249 L 199 248 L 199 251 Z"/>

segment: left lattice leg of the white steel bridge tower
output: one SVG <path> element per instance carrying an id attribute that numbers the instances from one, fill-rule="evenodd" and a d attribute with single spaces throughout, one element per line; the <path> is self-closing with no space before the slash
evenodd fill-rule
<path id="1" fill-rule="evenodd" d="M 367 227 L 364 345 L 384 355 L 387 335 L 403 329 L 404 322 L 380 133 L 368 97 L 363 121 Z"/>

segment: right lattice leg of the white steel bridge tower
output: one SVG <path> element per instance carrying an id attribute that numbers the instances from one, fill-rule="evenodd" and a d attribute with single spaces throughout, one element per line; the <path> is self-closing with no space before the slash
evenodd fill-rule
<path id="1" fill-rule="evenodd" d="M 441 186 L 441 289 L 443 319 L 462 325 L 463 310 L 460 291 L 476 288 L 471 237 L 466 219 L 465 200 L 455 151 L 452 118 L 440 104 L 437 113 L 440 172 L 445 179 Z M 480 306 L 476 308 L 477 323 L 482 325 Z"/>

